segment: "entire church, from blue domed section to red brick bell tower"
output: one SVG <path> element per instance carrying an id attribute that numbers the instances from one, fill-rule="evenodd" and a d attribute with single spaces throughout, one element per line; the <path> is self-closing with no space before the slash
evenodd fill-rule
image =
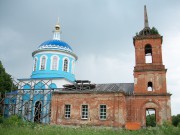
<path id="1" fill-rule="evenodd" d="M 144 28 L 133 37 L 134 83 L 92 84 L 76 80 L 78 57 L 61 40 L 60 30 L 58 21 L 53 39 L 32 53 L 33 71 L 30 78 L 19 79 L 15 114 L 32 122 L 57 125 L 144 127 L 150 114 L 154 114 L 156 124 L 171 121 L 163 37 L 149 27 L 146 7 Z"/>

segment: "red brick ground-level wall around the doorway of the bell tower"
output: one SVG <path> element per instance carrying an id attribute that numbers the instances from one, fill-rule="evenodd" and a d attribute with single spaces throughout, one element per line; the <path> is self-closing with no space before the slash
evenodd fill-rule
<path id="1" fill-rule="evenodd" d="M 156 110 L 157 124 L 171 121 L 170 95 L 167 96 L 129 96 L 126 98 L 127 122 L 139 122 L 146 125 L 146 109 Z"/>

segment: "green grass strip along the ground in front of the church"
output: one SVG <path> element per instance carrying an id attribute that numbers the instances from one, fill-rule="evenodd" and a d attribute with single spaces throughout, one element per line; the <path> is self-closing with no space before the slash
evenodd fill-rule
<path id="1" fill-rule="evenodd" d="M 105 127 L 70 127 L 42 125 L 22 121 L 18 117 L 0 119 L 0 135 L 180 135 L 180 126 L 163 124 L 138 131 Z"/>

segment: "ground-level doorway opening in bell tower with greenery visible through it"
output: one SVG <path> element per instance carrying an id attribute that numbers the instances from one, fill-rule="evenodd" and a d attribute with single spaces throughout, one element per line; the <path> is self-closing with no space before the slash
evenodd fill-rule
<path id="1" fill-rule="evenodd" d="M 152 108 L 146 109 L 146 127 L 156 126 L 156 110 Z"/>

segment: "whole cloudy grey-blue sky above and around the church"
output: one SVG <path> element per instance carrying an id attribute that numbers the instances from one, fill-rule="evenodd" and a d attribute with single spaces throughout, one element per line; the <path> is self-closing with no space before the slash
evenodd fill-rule
<path id="1" fill-rule="evenodd" d="M 0 60 L 14 78 L 28 78 L 32 52 L 52 39 L 60 19 L 61 39 L 78 56 L 76 79 L 133 83 L 133 36 L 149 26 L 163 36 L 163 64 L 172 114 L 180 114 L 179 0 L 0 0 Z"/>

